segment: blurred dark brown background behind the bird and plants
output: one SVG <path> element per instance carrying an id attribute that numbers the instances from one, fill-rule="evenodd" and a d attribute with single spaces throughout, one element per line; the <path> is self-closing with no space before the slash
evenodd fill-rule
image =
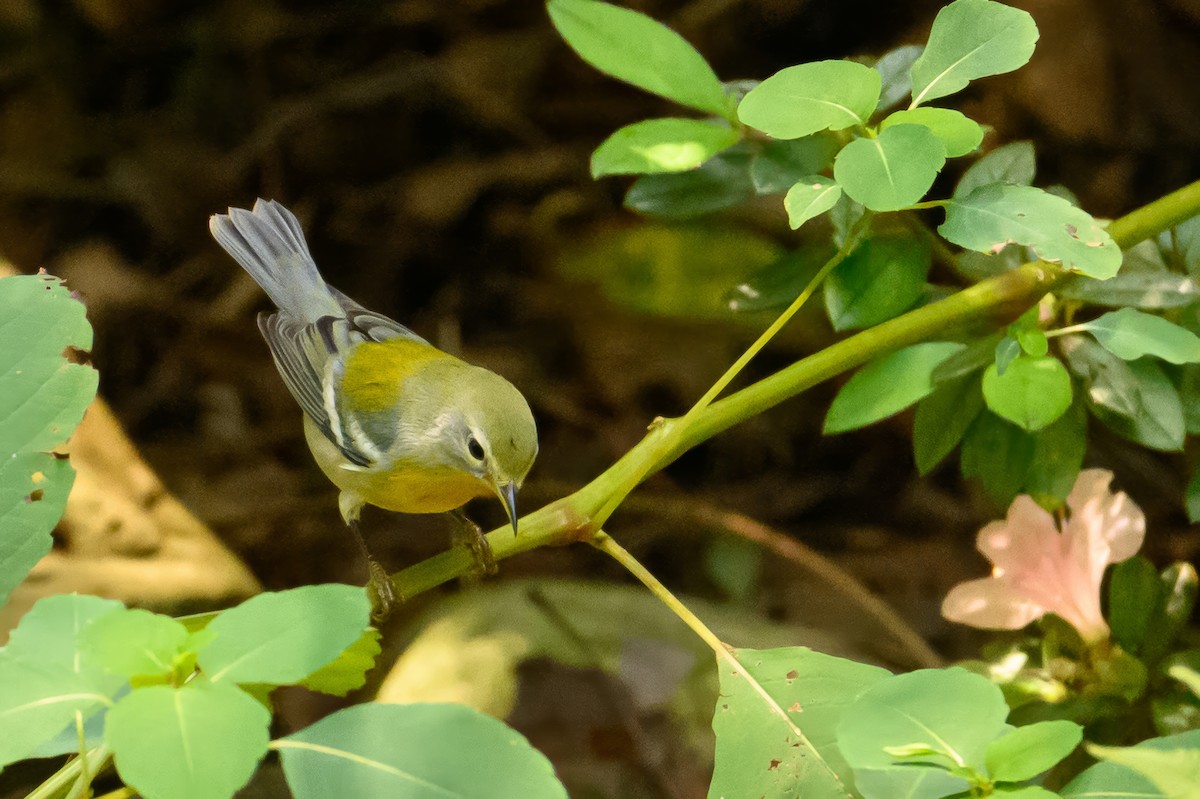
<path id="1" fill-rule="evenodd" d="M 674 26 L 719 76 L 737 79 L 919 42 L 942 4 L 626 5 Z M 1033 61 L 948 98 L 995 128 L 988 146 L 1034 139 L 1038 182 L 1066 184 L 1097 215 L 1198 176 L 1200 2 L 1014 5 L 1042 30 Z M 583 65 L 532 0 L 5 0 L 0 256 L 60 274 L 83 295 L 102 396 L 167 491 L 264 587 L 361 582 L 335 491 L 258 336 L 253 317 L 266 299 L 209 238 L 208 216 L 256 197 L 283 202 L 331 283 L 520 386 L 542 441 L 521 497 L 528 511 L 595 476 L 654 416 L 684 410 L 761 328 L 637 313 L 601 276 L 580 281 L 559 266 L 598 247 L 602 263 L 602 242 L 638 224 L 620 209 L 622 181 L 589 179 L 590 150 L 624 124 L 672 113 Z M 794 241 L 778 198 L 727 224 Z M 734 247 L 702 289 L 719 296 L 751 274 L 750 260 Z M 650 294 L 678 278 L 653 266 L 640 277 Z M 749 373 L 829 337 L 816 316 L 799 320 Z M 964 655 L 974 639 L 949 630 L 937 606 L 984 569 L 973 533 L 996 509 L 953 463 L 919 480 L 905 417 L 821 438 L 833 388 L 697 447 L 636 493 L 611 531 L 672 589 L 912 665 L 872 651 L 876 635 L 852 605 L 802 565 L 748 543 L 769 525 L 848 569 L 943 654 Z M 1090 463 L 1115 469 L 1147 507 L 1152 554 L 1194 557 L 1181 458 L 1100 435 Z M 492 505 L 473 515 L 499 523 Z M 444 527 L 383 512 L 365 519 L 377 557 L 397 569 L 443 548 Z M 744 575 L 740 588 L 730 575 Z M 586 547 L 505 561 L 497 579 L 521 576 L 629 582 Z M 589 768 L 635 775 L 606 781 L 581 767 L 578 795 L 702 792 L 708 767 L 688 758 L 677 758 L 678 779 L 636 776 L 654 770 L 640 761 L 644 731 L 605 715 L 612 686 L 594 685 L 604 678 L 544 672 L 553 667 L 524 675 L 523 732 L 545 744 L 556 725 L 582 725 L 594 732 L 580 743 Z M 589 709 L 588 695 L 608 710 Z M 556 715 L 566 713 L 564 696 L 578 703 L 570 723 Z M 308 703 L 284 710 L 284 727 L 320 711 Z M 624 793 L 596 787 L 608 785 Z"/>

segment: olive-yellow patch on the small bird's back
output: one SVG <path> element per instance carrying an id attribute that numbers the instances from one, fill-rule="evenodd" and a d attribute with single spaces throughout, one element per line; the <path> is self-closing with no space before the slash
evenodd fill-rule
<path id="1" fill-rule="evenodd" d="M 396 404 L 401 383 L 443 358 L 454 356 L 409 338 L 364 342 L 346 359 L 338 394 L 355 413 L 389 410 Z"/>

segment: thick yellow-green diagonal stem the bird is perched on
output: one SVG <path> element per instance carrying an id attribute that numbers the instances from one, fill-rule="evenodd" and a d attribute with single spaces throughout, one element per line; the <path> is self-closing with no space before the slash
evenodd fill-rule
<path id="1" fill-rule="evenodd" d="M 1109 234 L 1127 248 L 1198 214 L 1200 181 L 1115 220 Z M 490 533 L 492 552 L 500 560 L 546 545 L 590 540 L 600 528 L 601 510 L 619 505 L 638 482 L 696 444 L 823 380 L 904 347 L 1003 328 L 1033 307 L 1066 275 L 1046 263 L 1025 264 L 839 341 L 713 402 L 685 425 L 682 419 L 662 420 L 587 486 L 522 518 L 518 537 L 514 537 L 508 525 Z M 413 596 L 470 569 L 469 555 L 452 549 L 403 570 L 394 581 L 402 596 Z"/>

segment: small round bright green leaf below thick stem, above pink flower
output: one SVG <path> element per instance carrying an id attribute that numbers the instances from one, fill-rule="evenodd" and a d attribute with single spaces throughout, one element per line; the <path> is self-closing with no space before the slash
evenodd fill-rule
<path id="1" fill-rule="evenodd" d="M 1039 431 L 1070 407 L 1070 376 L 1057 358 L 1020 355 L 1001 374 L 983 373 L 983 397 L 994 414 L 1027 431 Z"/>

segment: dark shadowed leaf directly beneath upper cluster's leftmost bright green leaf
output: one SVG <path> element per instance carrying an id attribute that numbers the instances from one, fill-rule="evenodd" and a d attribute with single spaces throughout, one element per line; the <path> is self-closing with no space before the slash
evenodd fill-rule
<path id="1" fill-rule="evenodd" d="M 737 205 L 754 196 L 750 149 L 736 145 L 698 169 L 644 175 L 625 193 L 625 208 L 646 216 L 688 220 Z"/>

